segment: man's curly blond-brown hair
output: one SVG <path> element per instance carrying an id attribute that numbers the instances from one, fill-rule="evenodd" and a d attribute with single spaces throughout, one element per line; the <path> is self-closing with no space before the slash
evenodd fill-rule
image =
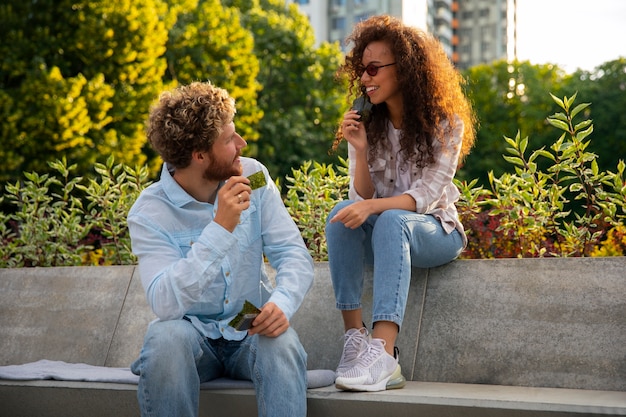
<path id="1" fill-rule="evenodd" d="M 161 94 L 150 110 L 148 140 L 163 161 L 185 168 L 192 152 L 211 150 L 235 112 L 235 101 L 226 90 L 193 82 Z"/>

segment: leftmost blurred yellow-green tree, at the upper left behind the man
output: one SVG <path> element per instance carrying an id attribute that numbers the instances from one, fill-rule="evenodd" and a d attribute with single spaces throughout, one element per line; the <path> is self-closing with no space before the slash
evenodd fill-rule
<path id="1" fill-rule="evenodd" d="M 63 157 L 79 174 L 102 155 L 143 163 L 167 14 L 160 0 L 3 2 L 0 180 L 49 172 Z"/>

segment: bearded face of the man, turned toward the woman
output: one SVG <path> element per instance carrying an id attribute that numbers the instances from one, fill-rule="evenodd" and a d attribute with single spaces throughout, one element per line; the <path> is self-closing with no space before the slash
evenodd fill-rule
<path id="1" fill-rule="evenodd" d="M 239 157 L 241 149 L 246 145 L 246 141 L 235 131 L 235 124 L 231 122 L 226 125 L 209 151 L 209 165 L 204 171 L 204 179 L 225 181 L 233 175 L 241 175 Z"/>

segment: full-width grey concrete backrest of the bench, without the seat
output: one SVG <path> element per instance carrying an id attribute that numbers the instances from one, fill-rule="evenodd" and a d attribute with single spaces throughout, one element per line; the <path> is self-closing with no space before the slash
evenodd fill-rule
<path id="1" fill-rule="evenodd" d="M 309 369 L 334 369 L 343 325 L 328 265 L 315 268 L 292 325 Z M 625 272 L 625 257 L 414 269 L 398 339 L 403 372 L 413 381 L 626 391 Z M 371 271 L 366 278 L 370 317 Z M 153 318 L 133 266 L 0 269 L 0 365 L 127 367 Z"/>

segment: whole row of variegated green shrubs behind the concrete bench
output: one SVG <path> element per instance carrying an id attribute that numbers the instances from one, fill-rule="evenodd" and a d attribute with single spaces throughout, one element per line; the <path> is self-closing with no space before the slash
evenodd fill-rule
<path id="1" fill-rule="evenodd" d="M 574 122 L 589 104 L 552 97 L 563 111 L 547 121 L 562 134 L 549 149 L 527 156 L 528 138 L 505 137 L 513 173 L 490 172 L 489 190 L 455 180 L 469 240 L 463 258 L 624 255 L 625 164 L 599 171 L 597 155 L 587 151 L 591 120 Z M 547 169 L 538 168 L 538 158 L 549 161 Z M 340 163 L 308 161 L 286 178 L 285 206 L 316 261 L 328 259 L 326 218 L 347 198 L 348 167 Z M 0 267 L 135 263 L 126 216 L 148 185 L 147 167 L 115 165 L 110 157 L 85 180 L 72 177 L 75 166 L 65 160 L 50 165 L 57 176 L 25 173 L 0 198 L 14 208 L 0 213 Z"/>

